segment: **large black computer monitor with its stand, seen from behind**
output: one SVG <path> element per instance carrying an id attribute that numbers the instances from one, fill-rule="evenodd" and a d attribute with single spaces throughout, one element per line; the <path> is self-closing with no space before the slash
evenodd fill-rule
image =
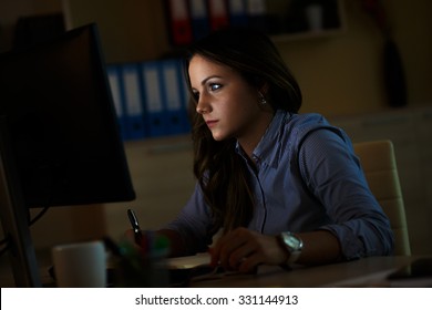
<path id="1" fill-rule="evenodd" d="M 0 54 L 0 116 L 4 236 L 17 286 L 40 286 L 28 208 L 135 198 L 96 24 Z"/>

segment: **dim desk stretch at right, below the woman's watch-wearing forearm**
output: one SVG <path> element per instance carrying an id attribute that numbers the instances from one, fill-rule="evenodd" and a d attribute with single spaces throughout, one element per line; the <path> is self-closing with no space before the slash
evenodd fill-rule
<path id="1" fill-rule="evenodd" d="M 284 270 L 279 267 L 263 266 L 257 275 L 222 276 L 217 279 L 192 281 L 192 287 L 369 287 L 389 286 L 383 279 L 390 272 L 408 265 L 418 257 L 369 257 L 349 262 L 316 267 L 298 267 Z M 403 283 L 400 282 L 403 287 Z M 405 282 L 407 283 L 407 282 Z M 428 278 L 428 287 L 432 278 Z"/>

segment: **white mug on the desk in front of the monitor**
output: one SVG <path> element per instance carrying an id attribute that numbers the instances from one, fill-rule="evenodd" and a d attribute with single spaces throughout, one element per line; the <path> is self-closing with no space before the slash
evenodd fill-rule
<path id="1" fill-rule="evenodd" d="M 106 254 L 102 241 L 55 246 L 52 258 L 59 288 L 106 287 Z"/>

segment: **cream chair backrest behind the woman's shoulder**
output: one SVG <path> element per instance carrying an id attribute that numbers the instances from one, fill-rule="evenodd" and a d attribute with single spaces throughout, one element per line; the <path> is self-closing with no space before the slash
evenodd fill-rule
<path id="1" fill-rule="evenodd" d="M 393 144 L 389 140 L 353 144 L 372 194 L 390 219 L 394 255 L 411 255 L 410 240 L 399 183 Z"/>

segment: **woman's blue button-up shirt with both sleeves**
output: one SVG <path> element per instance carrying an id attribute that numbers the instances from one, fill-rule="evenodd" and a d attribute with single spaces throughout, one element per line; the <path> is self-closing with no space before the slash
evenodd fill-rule
<path id="1" fill-rule="evenodd" d="M 254 217 L 248 228 L 281 231 L 331 231 L 346 259 L 389 255 L 389 219 L 369 190 L 349 137 L 318 114 L 278 111 L 253 152 L 249 167 Z M 209 244 L 212 214 L 196 185 L 178 217 L 165 228 L 178 231 L 188 252 Z"/>

